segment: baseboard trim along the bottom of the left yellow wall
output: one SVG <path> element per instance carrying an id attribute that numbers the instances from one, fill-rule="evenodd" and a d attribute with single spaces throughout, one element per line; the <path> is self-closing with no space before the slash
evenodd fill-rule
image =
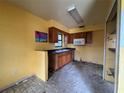
<path id="1" fill-rule="evenodd" d="M 13 86 L 15 86 L 15 85 L 18 85 L 20 82 L 23 82 L 23 81 L 25 81 L 25 80 L 27 80 L 27 79 L 33 77 L 33 76 L 36 76 L 36 75 L 33 74 L 33 75 L 25 76 L 25 77 L 23 77 L 22 79 L 17 80 L 16 82 L 11 83 L 11 84 L 9 84 L 8 86 L 6 86 L 6 87 L 4 87 L 4 88 L 0 88 L 0 92 L 6 90 L 6 89 L 8 89 L 8 88 L 11 88 L 11 87 L 13 87 Z"/>

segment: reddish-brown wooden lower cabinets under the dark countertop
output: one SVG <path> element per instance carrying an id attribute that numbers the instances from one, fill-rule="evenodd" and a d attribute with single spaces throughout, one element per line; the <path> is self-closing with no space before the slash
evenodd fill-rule
<path id="1" fill-rule="evenodd" d="M 73 61 L 74 50 L 66 51 L 58 54 L 49 54 L 49 69 L 56 71 L 64 65 Z"/>

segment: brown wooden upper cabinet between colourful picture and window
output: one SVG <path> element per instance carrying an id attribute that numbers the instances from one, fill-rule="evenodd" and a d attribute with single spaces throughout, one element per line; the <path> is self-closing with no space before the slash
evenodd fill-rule
<path id="1" fill-rule="evenodd" d="M 58 42 L 58 30 L 55 27 L 49 28 L 49 42 L 57 43 Z"/>

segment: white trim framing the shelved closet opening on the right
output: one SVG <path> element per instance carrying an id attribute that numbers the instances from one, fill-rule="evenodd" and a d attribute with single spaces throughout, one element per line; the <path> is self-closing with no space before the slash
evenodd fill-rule
<path id="1" fill-rule="evenodd" d="M 118 74 L 119 74 L 119 50 L 120 50 L 120 20 L 121 20 L 121 0 L 115 0 L 112 4 L 112 6 L 114 7 L 115 3 L 117 1 L 117 44 L 116 44 L 116 62 L 115 62 L 115 86 L 114 86 L 114 93 L 118 93 Z M 106 18 L 106 23 L 108 22 L 109 20 L 109 16 L 111 14 L 111 11 L 113 9 L 113 7 L 111 7 L 110 11 L 109 11 L 109 14 Z M 106 35 L 106 24 L 105 24 L 105 35 Z M 106 38 L 105 38 L 106 40 Z M 106 43 L 104 42 L 104 60 L 106 60 L 105 56 L 106 56 Z M 106 64 L 106 61 L 104 61 L 104 73 L 103 73 L 103 76 L 104 76 L 104 79 L 105 79 L 105 64 Z"/>

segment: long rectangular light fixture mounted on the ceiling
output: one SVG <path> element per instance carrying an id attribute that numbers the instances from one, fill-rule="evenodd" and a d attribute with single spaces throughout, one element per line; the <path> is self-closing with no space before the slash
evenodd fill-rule
<path id="1" fill-rule="evenodd" d="M 81 18 L 80 14 L 75 6 L 68 8 L 67 11 L 70 14 L 70 16 L 75 20 L 75 22 L 78 24 L 78 27 L 84 27 L 84 21 Z"/>

